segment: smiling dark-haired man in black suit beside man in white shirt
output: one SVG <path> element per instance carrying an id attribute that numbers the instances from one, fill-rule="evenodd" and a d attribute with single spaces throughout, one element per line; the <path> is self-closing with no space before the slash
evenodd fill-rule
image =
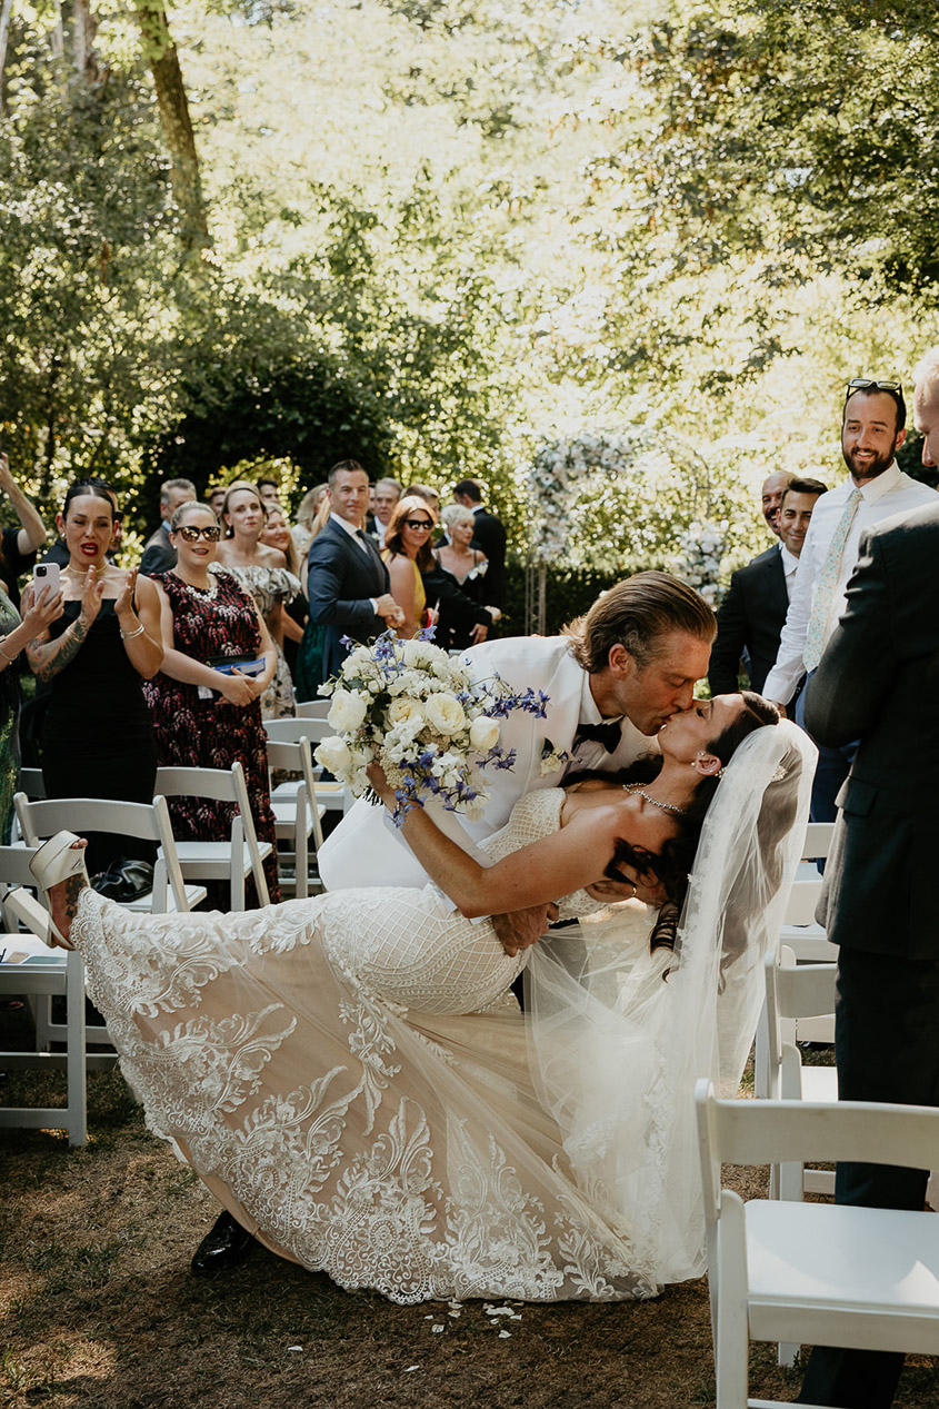
<path id="1" fill-rule="evenodd" d="M 718 634 L 708 666 L 711 695 L 736 690 L 743 651 L 749 658 L 750 686 L 763 689 L 776 664 L 805 530 L 825 489 L 818 479 L 790 479 L 777 510 L 779 544 L 731 576 L 731 588 L 718 610 Z"/>

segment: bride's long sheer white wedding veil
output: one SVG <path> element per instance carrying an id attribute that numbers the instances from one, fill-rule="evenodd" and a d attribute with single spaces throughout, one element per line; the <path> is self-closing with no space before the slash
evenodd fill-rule
<path id="1" fill-rule="evenodd" d="M 567 1172 L 652 1285 L 705 1270 L 694 1082 L 736 1093 L 815 757 L 786 720 L 743 740 L 704 821 L 674 952 L 624 941 L 614 914 L 581 926 L 586 948 L 539 944 L 528 965 L 531 1065 Z"/>

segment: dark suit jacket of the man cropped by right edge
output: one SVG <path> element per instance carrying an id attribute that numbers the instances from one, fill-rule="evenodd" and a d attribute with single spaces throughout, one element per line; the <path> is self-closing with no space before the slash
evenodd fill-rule
<path id="1" fill-rule="evenodd" d="M 860 542 L 847 604 L 805 686 L 805 727 L 860 738 L 838 795 L 819 920 L 870 954 L 939 960 L 939 504 Z"/>

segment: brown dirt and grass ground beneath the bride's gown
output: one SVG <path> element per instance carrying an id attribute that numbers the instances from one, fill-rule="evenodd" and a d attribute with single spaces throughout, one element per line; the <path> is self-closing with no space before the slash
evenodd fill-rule
<path id="1" fill-rule="evenodd" d="M 59 1082 L 11 1075 L 0 1100 L 53 1103 Z M 0 1402 L 11 1409 L 714 1403 L 704 1279 L 655 1302 L 467 1302 L 450 1316 L 342 1292 L 266 1251 L 213 1282 L 193 1278 L 217 1206 L 146 1133 L 120 1075 L 93 1074 L 89 1095 L 84 1148 L 0 1131 Z M 760 1178 L 729 1171 L 728 1182 L 756 1193 Z M 521 1319 L 493 1315 L 505 1305 Z M 800 1375 L 774 1360 L 774 1347 L 753 1348 L 750 1392 L 793 1399 Z M 939 1409 L 932 1363 L 907 1368 L 897 1403 Z"/>

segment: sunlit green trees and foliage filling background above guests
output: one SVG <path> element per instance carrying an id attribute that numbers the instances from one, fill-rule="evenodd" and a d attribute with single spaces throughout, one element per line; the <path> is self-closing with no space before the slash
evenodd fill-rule
<path id="1" fill-rule="evenodd" d="M 770 469 L 840 476 L 847 378 L 935 341 L 922 6 L 3 17 L 0 420 L 48 504 L 104 473 L 142 521 L 168 475 L 356 455 L 480 476 L 524 557 L 538 454 L 618 437 L 645 458 L 583 476 L 576 565 L 707 521 L 726 575 Z"/>

